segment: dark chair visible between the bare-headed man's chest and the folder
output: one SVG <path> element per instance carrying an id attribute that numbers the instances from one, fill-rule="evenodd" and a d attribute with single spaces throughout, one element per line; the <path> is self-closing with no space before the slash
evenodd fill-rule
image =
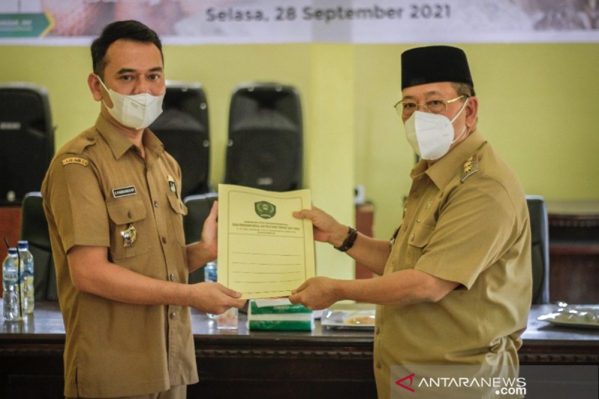
<path id="1" fill-rule="evenodd" d="M 183 230 L 185 232 L 185 243 L 199 241 L 202 238 L 202 229 L 204 221 L 210 214 L 210 209 L 215 200 L 218 199 L 218 194 L 198 194 L 187 196 L 183 202 L 187 206 L 187 215 L 183 218 Z M 204 269 L 195 270 L 189 274 L 189 284 L 204 281 Z"/>

